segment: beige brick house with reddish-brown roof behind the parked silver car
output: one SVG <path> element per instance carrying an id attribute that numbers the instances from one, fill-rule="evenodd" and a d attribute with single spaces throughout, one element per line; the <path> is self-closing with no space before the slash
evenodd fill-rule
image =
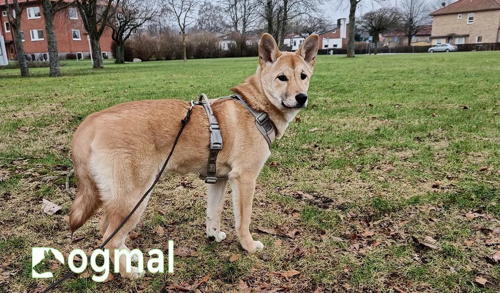
<path id="1" fill-rule="evenodd" d="M 458 0 L 431 15 L 432 45 L 500 42 L 500 0 Z"/>

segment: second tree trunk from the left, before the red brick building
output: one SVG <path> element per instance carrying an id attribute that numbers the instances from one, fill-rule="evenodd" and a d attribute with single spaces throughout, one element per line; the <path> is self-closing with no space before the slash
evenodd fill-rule
<path id="1" fill-rule="evenodd" d="M 55 40 L 52 3 L 50 0 L 43 0 L 42 5 L 43 17 L 45 18 L 45 31 L 47 34 L 49 75 L 59 76 L 61 74 L 61 70 L 59 65 L 59 51 L 57 50 L 57 42 Z"/>

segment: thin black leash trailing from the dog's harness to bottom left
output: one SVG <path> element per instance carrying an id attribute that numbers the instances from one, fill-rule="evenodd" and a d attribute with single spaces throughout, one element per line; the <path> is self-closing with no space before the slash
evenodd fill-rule
<path id="1" fill-rule="evenodd" d="M 170 149 L 170 153 L 166 157 L 165 162 L 163 163 L 163 166 L 161 167 L 161 170 L 159 171 L 158 175 L 156 175 L 156 178 L 154 179 L 154 182 L 147 189 L 147 191 L 144 193 L 144 195 L 142 195 L 142 197 L 139 199 L 139 201 L 137 202 L 137 204 L 135 204 L 135 206 L 133 207 L 132 211 L 130 211 L 130 213 L 123 219 L 123 221 L 121 221 L 120 225 L 116 229 L 114 229 L 114 231 L 111 233 L 111 235 L 109 235 L 109 237 L 107 237 L 107 239 L 104 240 L 104 242 L 102 242 L 102 244 L 100 244 L 100 246 L 97 249 L 104 248 L 104 246 L 109 242 L 109 240 L 111 240 L 111 238 L 128 221 L 128 219 L 132 216 L 132 214 L 135 212 L 135 210 L 137 210 L 137 208 L 139 208 L 140 204 L 142 203 L 142 201 L 144 200 L 144 198 L 146 198 L 147 194 L 149 194 L 149 192 L 151 192 L 151 190 L 153 189 L 154 185 L 156 185 L 156 183 L 159 180 L 159 177 L 161 176 L 161 174 L 165 170 L 166 164 L 170 160 L 170 156 L 172 156 L 173 150 L 175 149 L 175 145 L 177 145 L 177 141 L 179 140 L 180 133 L 182 133 L 182 130 L 184 130 L 185 125 L 189 121 L 189 117 L 191 116 L 191 110 L 192 110 L 192 108 L 194 107 L 195 104 L 196 103 L 194 103 L 194 101 L 191 100 L 191 106 L 187 110 L 186 116 L 184 117 L 184 119 L 180 120 L 182 122 L 182 126 L 180 126 L 179 132 L 177 132 L 177 136 L 175 137 L 175 140 L 173 141 L 172 149 Z M 90 256 L 91 255 L 87 256 L 87 263 L 88 263 L 88 261 L 90 261 Z M 60 278 L 57 281 L 51 283 L 48 287 L 46 287 L 43 291 L 41 291 L 41 293 L 46 293 L 46 292 L 50 291 L 51 289 L 53 289 L 56 286 L 58 286 L 62 281 L 64 281 L 65 279 L 67 279 L 67 278 L 69 278 L 69 277 L 71 277 L 71 276 L 73 276 L 75 274 L 77 274 L 77 273 L 76 272 L 72 272 L 72 271 L 66 273 L 62 278 Z"/>

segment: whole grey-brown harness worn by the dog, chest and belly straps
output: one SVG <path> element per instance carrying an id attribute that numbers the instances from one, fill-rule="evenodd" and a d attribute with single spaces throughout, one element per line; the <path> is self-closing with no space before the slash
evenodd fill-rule
<path id="1" fill-rule="evenodd" d="M 249 112 L 255 117 L 255 125 L 257 129 L 262 133 L 267 145 L 269 146 L 269 150 L 271 149 L 271 143 L 276 137 L 276 126 L 269 119 L 269 116 L 265 112 L 256 111 L 250 107 L 243 99 L 240 94 L 233 94 L 228 97 L 222 98 L 231 98 L 239 101 Z M 206 174 L 199 174 L 199 178 L 204 180 L 205 183 L 214 184 L 217 183 L 217 180 L 226 180 L 225 177 L 217 177 L 216 172 L 216 162 L 218 152 L 222 149 L 222 136 L 220 135 L 220 127 L 217 118 L 213 114 L 212 108 L 210 107 L 210 101 L 206 97 L 206 94 L 202 93 L 199 95 L 198 101 L 191 101 L 192 104 L 199 104 L 205 108 L 206 116 L 208 117 L 208 130 L 210 131 L 210 144 L 209 144 L 209 154 L 208 154 L 208 167 L 206 169 Z"/>

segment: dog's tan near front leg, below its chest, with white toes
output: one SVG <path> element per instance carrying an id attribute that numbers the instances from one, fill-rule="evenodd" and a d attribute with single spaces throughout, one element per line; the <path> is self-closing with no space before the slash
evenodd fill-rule
<path id="1" fill-rule="evenodd" d="M 248 252 L 263 249 L 260 241 L 253 241 L 250 234 L 250 216 L 252 210 L 253 194 L 255 193 L 255 178 L 238 176 L 231 178 L 232 207 L 234 222 L 239 243 Z"/>

